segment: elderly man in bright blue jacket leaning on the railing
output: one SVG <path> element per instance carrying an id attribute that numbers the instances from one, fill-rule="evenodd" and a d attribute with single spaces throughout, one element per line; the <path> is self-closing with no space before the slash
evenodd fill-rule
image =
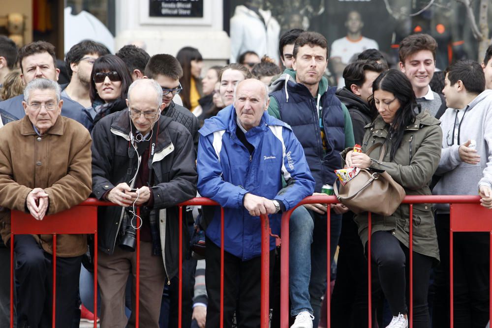
<path id="1" fill-rule="evenodd" d="M 314 190 L 301 144 L 288 124 L 268 115 L 268 90 L 259 80 L 238 84 L 234 104 L 205 120 L 198 143 L 198 191 L 224 208 L 224 327 L 260 326 L 260 214 L 296 206 Z M 287 182 L 282 187 L 282 179 Z M 206 230 L 207 328 L 220 322 L 220 209 Z M 270 250 L 275 240 L 270 240 Z"/>

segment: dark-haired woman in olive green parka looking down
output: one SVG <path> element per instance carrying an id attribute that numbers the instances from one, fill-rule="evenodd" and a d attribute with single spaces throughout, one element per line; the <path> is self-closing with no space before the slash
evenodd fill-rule
<path id="1" fill-rule="evenodd" d="M 399 70 L 381 73 L 373 82 L 372 91 L 369 104 L 379 115 L 366 128 L 363 152 L 345 149 L 342 158 L 348 167 L 386 171 L 407 195 L 431 195 L 429 182 L 441 155 L 439 120 L 427 111 L 420 112 L 412 85 Z M 367 254 L 367 212 L 356 215 L 355 221 Z M 410 222 L 413 224 L 413 327 L 431 327 L 427 304 L 429 279 L 432 266 L 439 262 L 432 207 L 415 204 L 410 221 L 409 206 L 401 204 L 390 216 L 373 213 L 371 218 L 372 261 L 378 268 L 381 289 L 393 315 L 387 328 L 408 327 L 408 307 L 412 306 L 408 304 L 407 279 Z"/>

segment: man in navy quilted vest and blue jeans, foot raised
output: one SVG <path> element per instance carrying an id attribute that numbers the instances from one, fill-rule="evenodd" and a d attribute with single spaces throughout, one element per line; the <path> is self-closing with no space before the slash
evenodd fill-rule
<path id="1" fill-rule="evenodd" d="M 328 64 L 326 38 L 303 32 L 294 43 L 292 69 L 271 86 L 270 115 L 292 126 L 301 142 L 316 181 L 313 195 L 322 195 L 324 184 L 333 185 L 334 170 L 341 168 L 340 152 L 354 145 L 352 121 L 345 105 L 329 87 L 323 73 Z M 341 230 L 340 205 L 331 206 L 330 259 L 333 260 Z M 326 290 L 326 211 L 323 204 L 296 209 L 290 219 L 290 296 L 293 328 L 317 327 L 321 297 Z M 315 229 L 314 229 L 315 228 Z M 311 244 L 312 243 L 312 244 Z"/>

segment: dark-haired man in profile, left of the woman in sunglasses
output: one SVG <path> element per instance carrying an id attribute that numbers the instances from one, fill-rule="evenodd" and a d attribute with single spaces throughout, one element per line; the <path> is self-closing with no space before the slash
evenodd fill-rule
<path id="1" fill-rule="evenodd" d="M 92 40 L 83 40 L 74 45 L 65 55 L 65 66 L 70 83 L 62 86 L 62 96 L 72 99 L 87 111 L 92 111 L 89 86 L 94 61 L 100 56 L 109 54 L 103 44 Z"/>

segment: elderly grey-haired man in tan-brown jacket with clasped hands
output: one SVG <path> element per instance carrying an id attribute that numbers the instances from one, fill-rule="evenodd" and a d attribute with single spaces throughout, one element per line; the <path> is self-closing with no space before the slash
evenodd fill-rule
<path id="1" fill-rule="evenodd" d="M 35 79 L 24 90 L 26 116 L 0 129 L 1 237 L 10 241 L 10 209 L 33 219 L 70 209 L 91 193 L 91 136 L 62 117 L 58 83 Z M 68 327 L 77 301 L 85 235 L 57 239 L 56 327 Z M 52 236 L 20 235 L 14 241 L 18 327 L 50 327 Z"/>

